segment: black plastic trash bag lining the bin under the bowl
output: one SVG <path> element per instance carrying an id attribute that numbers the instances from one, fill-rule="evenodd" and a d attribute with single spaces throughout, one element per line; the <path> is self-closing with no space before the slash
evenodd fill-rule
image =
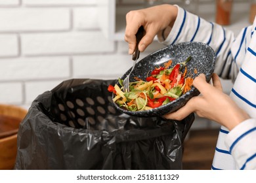
<path id="1" fill-rule="evenodd" d="M 114 108 L 116 80 L 66 80 L 39 95 L 20 124 L 14 169 L 182 169 L 194 114 L 181 122 Z"/>

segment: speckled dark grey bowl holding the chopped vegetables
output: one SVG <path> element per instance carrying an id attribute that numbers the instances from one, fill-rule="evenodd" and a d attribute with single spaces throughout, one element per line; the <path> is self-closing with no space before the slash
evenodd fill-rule
<path id="1" fill-rule="evenodd" d="M 170 67 L 174 67 L 177 63 L 185 61 L 189 56 L 191 56 L 192 59 L 190 59 L 190 61 L 186 64 L 188 69 L 187 73 L 192 75 L 192 78 L 195 78 L 203 73 L 206 76 L 207 82 L 209 82 L 215 67 L 215 52 L 210 46 L 202 42 L 182 42 L 161 48 L 160 50 L 146 56 L 138 61 L 135 65 L 135 69 L 130 76 L 130 82 L 135 81 L 135 76 L 141 78 L 142 80 L 146 80 L 146 77 L 150 75 L 151 71 L 153 71 L 156 67 L 163 66 L 164 63 L 170 59 L 173 60 Z M 195 69 L 197 70 L 197 73 L 194 72 Z M 121 76 L 121 79 L 124 79 L 130 73 L 130 71 L 131 68 L 123 76 Z M 175 101 L 171 101 L 166 105 L 152 108 L 150 110 L 129 111 L 125 108 L 119 107 L 116 103 L 114 103 L 114 106 L 117 108 L 117 110 L 125 114 L 129 114 L 130 116 L 162 116 L 163 114 L 178 110 L 179 108 L 183 107 L 189 99 L 199 94 L 200 92 L 194 88 L 194 86 L 192 86 L 189 92 L 184 93 Z"/>

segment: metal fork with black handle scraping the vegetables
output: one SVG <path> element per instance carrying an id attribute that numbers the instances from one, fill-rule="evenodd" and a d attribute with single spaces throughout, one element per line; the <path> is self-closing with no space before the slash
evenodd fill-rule
<path id="1" fill-rule="evenodd" d="M 139 59 L 140 56 L 140 50 L 138 48 L 139 46 L 139 42 L 142 39 L 144 35 L 144 28 L 143 26 L 140 26 L 137 34 L 136 34 L 136 47 L 135 47 L 135 52 L 133 52 L 133 67 L 131 68 L 131 71 L 129 73 L 129 75 L 126 76 L 126 78 L 123 80 L 123 92 L 130 92 L 129 90 L 129 82 L 130 82 L 130 75 L 133 72 L 133 69 L 137 63 L 137 59 Z"/>

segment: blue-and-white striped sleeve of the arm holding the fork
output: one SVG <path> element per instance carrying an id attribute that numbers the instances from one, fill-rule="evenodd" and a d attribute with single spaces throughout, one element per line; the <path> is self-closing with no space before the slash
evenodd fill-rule
<path id="1" fill-rule="evenodd" d="M 248 37 L 249 31 L 245 31 L 244 39 L 241 35 L 238 37 L 239 41 L 236 41 L 232 31 L 177 7 L 179 10 L 175 24 L 168 37 L 161 43 L 170 45 L 194 41 L 208 44 L 216 54 L 215 73 L 221 78 L 234 81 L 242 64 L 240 58 L 244 57 L 245 35 Z"/>

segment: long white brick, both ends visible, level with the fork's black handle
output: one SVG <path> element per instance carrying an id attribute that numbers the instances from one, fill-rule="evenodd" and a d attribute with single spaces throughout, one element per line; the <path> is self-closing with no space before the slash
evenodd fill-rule
<path id="1" fill-rule="evenodd" d="M 21 39 L 22 54 L 28 56 L 114 52 L 114 42 L 101 31 L 24 34 Z"/>

